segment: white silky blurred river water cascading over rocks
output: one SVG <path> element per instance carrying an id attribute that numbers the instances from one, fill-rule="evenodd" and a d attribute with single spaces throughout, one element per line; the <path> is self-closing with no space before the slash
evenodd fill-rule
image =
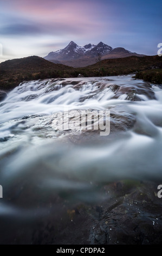
<path id="1" fill-rule="evenodd" d="M 110 135 L 55 130 L 55 114 L 72 109 L 108 109 Z M 0 215 L 35 219 L 58 196 L 95 202 L 109 182 L 161 180 L 161 109 L 160 87 L 131 76 L 20 84 L 0 102 Z"/>

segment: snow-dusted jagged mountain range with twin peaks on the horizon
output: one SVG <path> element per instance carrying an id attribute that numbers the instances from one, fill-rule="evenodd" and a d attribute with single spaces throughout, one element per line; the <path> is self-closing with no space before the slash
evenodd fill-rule
<path id="1" fill-rule="evenodd" d="M 73 66 L 74 68 L 80 68 L 95 64 L 95 57 L 98 53 L 101 54 L 102 60 L 130 56 L 145 56 L 143 54 L 130 52 L 122 47 L 112 48 L 111 46 L 103 44 L 103 42 L 99 42 L 98 45 L 88 44 L 85 46 L 78 46 L 75 42 L 71 41 L 65 48 L 56 52 L 50 52 L 44 59 L 55 64 L 64 64 Z"/>

